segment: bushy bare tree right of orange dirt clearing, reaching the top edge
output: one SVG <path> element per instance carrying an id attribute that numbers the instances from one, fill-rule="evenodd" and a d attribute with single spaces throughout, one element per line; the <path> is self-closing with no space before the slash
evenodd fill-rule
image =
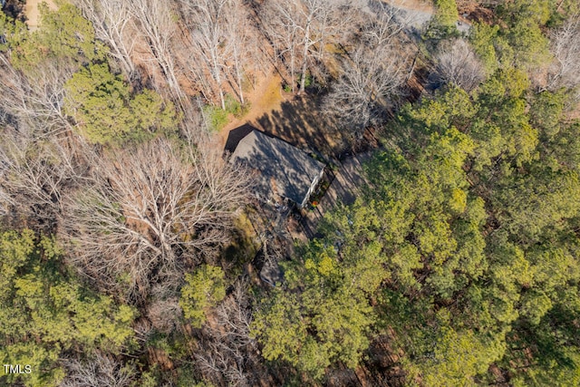
<path id="1" fill-rule="evenodd" d="M 403 92 L 409 68 L 403 29 L 411 23 L 400 8 L 370 2 L 358 15 L 360 39 L 343 57 L 340 74 L 324 98 L 324 111 L 337 119 L 354 140 L 370 125 L 380 124 Z"/>

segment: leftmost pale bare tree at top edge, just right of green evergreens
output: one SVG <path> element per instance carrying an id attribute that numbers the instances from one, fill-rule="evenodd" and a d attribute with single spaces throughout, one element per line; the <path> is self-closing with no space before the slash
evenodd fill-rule
<path id="1" fill-rule="evenodd" d="M 130 3 L 126 0 L 75 0 L 84 17 L 92 22 L 95 36 L 111 48 L 111 56 L 128 79 L 136 73 L 131 55 L 135 36 L 131 34 Z"/>

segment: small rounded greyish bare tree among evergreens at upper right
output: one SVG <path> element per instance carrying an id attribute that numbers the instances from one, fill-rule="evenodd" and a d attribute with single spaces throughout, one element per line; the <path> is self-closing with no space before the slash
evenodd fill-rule
<path id="1" fill-rule="evenodd" d="M 435 61 L 437 77 L 443 84 L 453 83 L 466 92 L 471 92 L 485 79 L 483 64 L 463 39 L 440 47 Z"/>

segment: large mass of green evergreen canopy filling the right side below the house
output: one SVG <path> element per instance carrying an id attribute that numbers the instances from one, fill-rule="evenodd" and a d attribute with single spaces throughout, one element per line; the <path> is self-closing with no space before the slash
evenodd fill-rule
<path id="1" fill-rule="evenodd" d="M 537 371 L 510 365 L 530 334 L 570 332 L 560 318 L 580 299 L 580 148 L 562 98 L 509 68 L 472 94 L 450 87 L 403 108 L 363 198 L 325 216 L 257 314 L 266 359 L 321 377 L 391 327 L 410 382 L 477 384 L 495 363 L 525 384 L 573 385 L 577 347 L 561 334 L 564 345 L 533 344 Z M 330 341 L 322 315 L 341 327 Z"/>

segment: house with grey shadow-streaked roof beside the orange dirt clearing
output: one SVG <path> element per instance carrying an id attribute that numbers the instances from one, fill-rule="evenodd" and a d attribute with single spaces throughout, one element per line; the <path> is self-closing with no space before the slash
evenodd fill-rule
<path id="1" fill-rule="evenodd" d="M 285 140 L 248 126 L 240 130 L 244 137 L 237 141 L 229 161 L 254 170 L 256 197 L 274 203 L 289 199 L 304 208 L 323 177 L 324 164 Z"/>

